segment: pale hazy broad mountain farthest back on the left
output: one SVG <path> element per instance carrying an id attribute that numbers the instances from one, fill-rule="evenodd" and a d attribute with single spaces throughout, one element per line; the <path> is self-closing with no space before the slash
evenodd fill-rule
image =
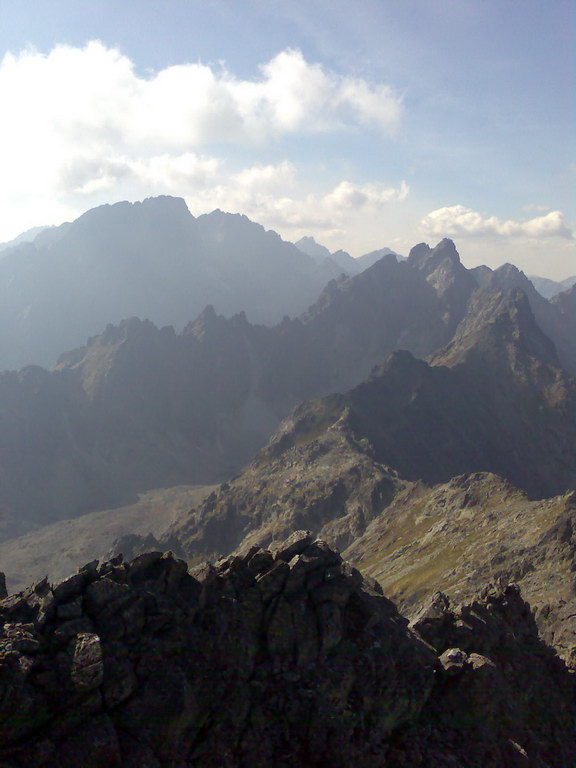
<path id="1" fill-rule="evenodd" d="M 339 272 L 245 216 L 194 218 L 172 197 L 104 205 L 4 253 L 0 370 L 52 365 L 131 316 L 180 329 L 212 303 L 275 323 L 306 309 Z"/>

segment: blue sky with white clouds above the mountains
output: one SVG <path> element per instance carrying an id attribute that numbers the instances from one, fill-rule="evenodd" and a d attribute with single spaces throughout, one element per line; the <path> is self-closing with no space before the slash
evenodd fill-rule
<path id="1" fill-rule="evenodd" d="M 573 0 L 0 0 L 0 241 L 151 195 L 576 274 Z"/>

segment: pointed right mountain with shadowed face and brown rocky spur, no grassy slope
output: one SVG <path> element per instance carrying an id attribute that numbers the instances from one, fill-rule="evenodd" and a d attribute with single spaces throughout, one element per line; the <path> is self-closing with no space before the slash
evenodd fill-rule
<path id="1" fill-rule="evenodd" d="M 492 472 L 535 497 L 574 487 L 574 381 L 521 291 L 475 302 L 432 364 L 395 352 L 350 392 L 298 406 L 175 526 L 189 554 L 266 546 L 291 527 L 347 546 L 406 481 Z"/>

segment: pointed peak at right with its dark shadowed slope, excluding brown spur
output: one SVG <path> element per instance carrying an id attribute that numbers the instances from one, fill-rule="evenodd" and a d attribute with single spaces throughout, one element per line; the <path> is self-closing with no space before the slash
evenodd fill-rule
<path id="1" fill-rule="evenodd" d="M 431 365 L 394 353 L 347 395 L 301 406 L 267 450 L 344 420 L 407 479 L 492 471 L 535 496 L 576 484 L 573 380 L 524 294 L 484 294 L 478 304 Z"/>

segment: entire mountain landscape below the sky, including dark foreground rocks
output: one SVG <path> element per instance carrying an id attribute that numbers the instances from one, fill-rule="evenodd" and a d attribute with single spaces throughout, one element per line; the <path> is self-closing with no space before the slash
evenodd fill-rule
<path id="1" fill-rule="evenodd" d="M 576 285 L 176 198 L 0 278 L 3 765 L 573 763 Z"/>

